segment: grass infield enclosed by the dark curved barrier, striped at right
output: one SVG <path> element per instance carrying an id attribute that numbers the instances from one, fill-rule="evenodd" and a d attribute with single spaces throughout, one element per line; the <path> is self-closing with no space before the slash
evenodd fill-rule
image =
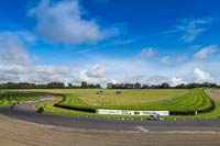
<path id="1" fill-rule="evenodd" d="M 116 94 L 113 90 L 105 92 L 103 94 L 94 94 L 94 97 L 89 97 L 89 93 L 87 96 L 67 96 L 61 104 L 90 109 L 169 111 L 194 111 L 211 106 L 210 98 L 202 89 L 191 89 L 189 91 L 163 89 L 122 90 L 121 94 Z"/>

